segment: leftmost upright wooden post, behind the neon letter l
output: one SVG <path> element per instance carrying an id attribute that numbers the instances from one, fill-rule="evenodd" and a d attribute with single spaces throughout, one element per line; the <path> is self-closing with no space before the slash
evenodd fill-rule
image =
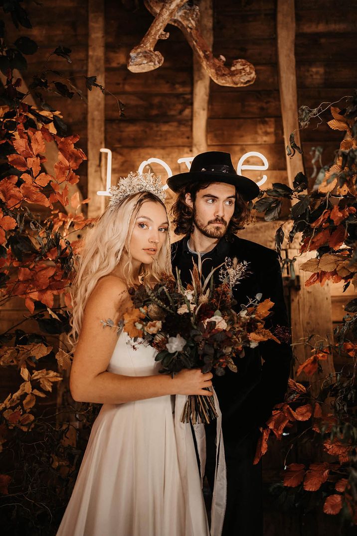
<path id="1" fill-rule="evenodd" d="M 88 76 L 97 76 L 104 86 L 105 35 L 104 0 L 88 0 Z M 106 190 L 100 165 L 101 147 L 105 143 L 105 96 L 101 91 L 88 91 L 88 217 L 95 218 L 104 210 L 104 196 L 98 190 Z"/>

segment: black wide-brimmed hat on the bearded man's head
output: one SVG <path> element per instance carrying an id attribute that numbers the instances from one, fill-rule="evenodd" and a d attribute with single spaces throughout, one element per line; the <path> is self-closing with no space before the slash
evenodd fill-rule
<path id="1" fill-rule="evenodd" d="M 231 155 L 222 151 L 198 154 L 192 160 L 190 171 L 173 175 L 167 180 L 167 185 L 178 193 L 188 184 L 200 182 L 232 184 L 246 201 L 256 198 L 259 193 L 257 183 L 243 175 L 238 175 L 233 167 Z"/>

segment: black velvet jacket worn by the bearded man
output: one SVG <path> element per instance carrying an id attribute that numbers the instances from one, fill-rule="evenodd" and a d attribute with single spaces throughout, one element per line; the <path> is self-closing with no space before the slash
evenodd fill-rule
<path id="1" fill-rule="evenodd" d="M 192 260 L 197 263 L 197 255 L 187 248 L 188 237 L 172 245 L 172 269 L 181 273 L 184 284 L 191 282 Z M 256 348 L 245 348 L 245 356 L 235 360 L 238 372 L 228 368 L 224 376 L 213 378 L 214 388 L 222 411 L 222 428 L 225 441 L 234 441 L 245 436 L 250 430 L 264 425 L 275 404 L 282 402 L 287 390 L 292 350 L 290 330 L 283 296 L 281 269 L 275 251 L 263 245 L 234 236 L 232 242 L 223 237 L 216 247 L 202 256 L 203 275 L 214 266 L 224 262 L 226 257 L 246 260 L 251 272 L 233 289 L 240 304 L 247 303 L 257 293 L 262 293 L 261 301 L 270 298 L 274 302 L 273 314 L 266 319 L 266 327 L 282 340 L 259 343 Z M 219 270 L 215 272 L 218 280 Z M 263 358 L 263 365 L 261 362 Z"/>

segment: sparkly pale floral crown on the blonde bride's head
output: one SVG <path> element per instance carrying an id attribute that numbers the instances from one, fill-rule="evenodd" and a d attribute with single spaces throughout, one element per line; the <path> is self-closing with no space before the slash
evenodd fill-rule
<path id="1" fill-rule="evenodd" d="M 112 196 L 109 202 L 111 209 L 134 193 L 150 192 L 161 199 L 162 202 L 166 199 L 166 194 L 162 189 L 161 179 L 154 177 L 153 173 L 130 172 L 127 177 L 120 177 L 118 185 L 112 186 L 109 191 Z"/>

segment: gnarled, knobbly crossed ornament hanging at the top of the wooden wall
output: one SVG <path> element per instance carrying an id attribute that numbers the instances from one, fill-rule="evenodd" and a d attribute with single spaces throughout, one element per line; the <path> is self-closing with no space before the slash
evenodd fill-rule
<path id="1" fill-rule="evenodd" d="M 180 28 L 191 48 L 198 55 L 209 77 L 220 86 L 240 87 L 253 84 L 256 79 L 254 66 L 245 59 L 235 59 L 229 69 L 224 65 L 224 58 L 215 58 L 203 39 L 199 27 L 199 8 L 187 5 L 187 0 L 163 2 L 161 0 L 144 0 L 146 8 L 155 20 L 141 43 L 133 48 L 128 60 L 128 69 L 133 72 L 146 72 L 157 69 L 164 58 L 154 50 L 158 39 L 166 39 L 165 26 L 173 24 Z"/>

